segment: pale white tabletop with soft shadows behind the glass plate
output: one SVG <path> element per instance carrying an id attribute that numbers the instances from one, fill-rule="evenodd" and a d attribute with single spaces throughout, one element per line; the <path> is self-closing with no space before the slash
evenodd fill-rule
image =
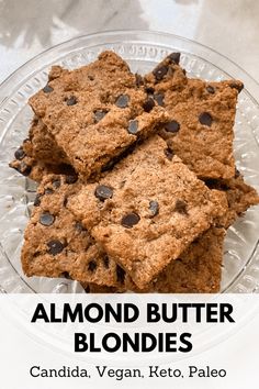
<path id="1" fill-rule="evenodd" d="M 60 42 L 123 29 L 192 38 L 226 55 L 259 81 L 257 0 L 0 0 L 0 82 Z"/>

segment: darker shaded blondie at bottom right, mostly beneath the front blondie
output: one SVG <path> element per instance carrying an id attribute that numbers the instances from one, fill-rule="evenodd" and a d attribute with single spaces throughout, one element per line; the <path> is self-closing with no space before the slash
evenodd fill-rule
<path id="1" fill-rule="evenodd" d="M 215 293 L 222 278 L 225 230 L 211 227 L 172 260 L 144 290 L 127 279 L 127 289 L 135 292 Z"/>

